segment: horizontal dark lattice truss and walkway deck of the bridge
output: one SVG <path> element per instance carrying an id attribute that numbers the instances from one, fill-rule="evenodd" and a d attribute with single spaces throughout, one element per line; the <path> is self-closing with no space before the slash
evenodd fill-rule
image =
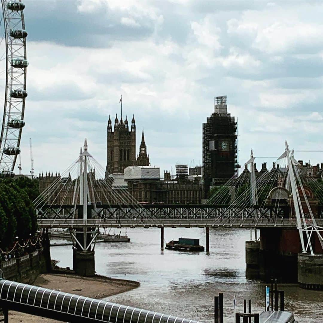
<path id="1" fill-rule="evenodd" d="M 147 204 L 138 208 L 129 205 L 88 205 L 87 219 L 83 219 L 82 205 L 48 205 L 37 211 L 41 228 L 84 227 L 297 227 L 290 218 L 287 205 L 180 205 Z M 78 216 L 79 215 L 79 216 Z M 310 221 L 310 219 L 308 219 Z M 323 224 L 322 211 L 317 222 Z"/>

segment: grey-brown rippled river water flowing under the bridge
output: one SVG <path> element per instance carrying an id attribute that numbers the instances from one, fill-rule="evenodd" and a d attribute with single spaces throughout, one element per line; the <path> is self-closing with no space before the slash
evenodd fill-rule
<path id="1" fill-rule="evenodd" d="M 116 230 L 116 233 L 119 233 Z M 122 232 L 123 233 L 123 232 Z M 251 298 L 252 310 L 265 307 L 265 284 L 245 278 L 246 229 L 210 229 L 210 254 L 160 250 L 160 229 L 128 229 L 130 243 L 99 243 L 95 266 L 99 275 L 139 281 L 137 289 L 108 297 L 124 305 L 214 322 L 214 296 L 224 293 L 224 322 L 234 322 L 237 311 Z M 205 229 L 165 228 L 165 240 L 199 238 L 205 246 Z M 259 235 L 258 235 L 259 236 Z M 72 268 L 72 247 L 51 247 L 58 266 Z M 323 321 L 323 292 L 301 289 L 297 284 L 279 284 L 285 290 L 285 309 L 298 322 Z"/>

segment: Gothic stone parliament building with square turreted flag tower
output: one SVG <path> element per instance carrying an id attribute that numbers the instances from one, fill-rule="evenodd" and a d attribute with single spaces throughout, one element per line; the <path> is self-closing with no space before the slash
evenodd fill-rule
<path id="1" fill-rule="evenodd" d="M 198 178 L 194 180 L 188 179 L 187 176 L 171 179 L 170 173 L 165 173 L 165 178 L 160 178 L 159 167 L 150 166 L 150 158 L 147 153 L 144 131 L 141 134 L 141 143 L 139 154 L 136 154 L 136 121 L 132 116 L 131 124 L 127 119 L 120 120 L 116 115 L 114 124 L 112 125 L 111 117 L 109 116 L 107 126 L 107 175 L 105 179 L 96 179 L 95 173 L 89 173 L 92 176 L 94 186 L 97 186 L 98 195 L 109 196 L 111 192 L 100 192 L 102 190 L 101 180 L 113 182 L 113 190 L 127 189 L 128 192 L 138 201 L 144 203 L 192 203 L 199 204 L 202 199 L 202 185 Z M 133 176 L 127 177 L 125 169 L 130 172 L 133 170 L 140 173 L 154 173 L 157 176 Z M 110 176 L 111 174 L 111 176 Z M 167 176 L 166 176 L 167 175 Z M 65 204 L 73 204 L 73 190 L 67 192 L 67 187 L 73 187 L 75 181 L 70 177 L 60 178 L 60 174 L 55 175 L 39 174 L 39 190 L 40 193 L 48 189 L 53 182 L 61 181 L 62 187 L 57 189 L 55 203 L 61 203 L 65 199 Z M 97 182 L 98 181 L 98 182 Z M 96 183 L 97 182 L 97 183 Z M 110 203 L 113 203 L 111 200 Z"/>

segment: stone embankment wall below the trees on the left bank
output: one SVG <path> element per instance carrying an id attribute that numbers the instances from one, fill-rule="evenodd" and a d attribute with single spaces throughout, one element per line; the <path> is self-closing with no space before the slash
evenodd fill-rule
<path id="1" fill-rule="evenodd" d="M 0 269 L 5 279 L 31 284 L 39 274 L 47 273 L 46 264 L 46 252 L 41 248 L 20 258 L 0 262 Z"/>

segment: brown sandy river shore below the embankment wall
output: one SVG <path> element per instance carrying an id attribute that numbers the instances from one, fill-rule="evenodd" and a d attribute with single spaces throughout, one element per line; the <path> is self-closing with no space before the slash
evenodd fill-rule
<path id="1" fill-rule="evenodd" d="M 130 280 L 111 279 L 101 276 L 84 278 L 75 275 L 57 274 L 39 275 L 33 285 L 92 298 L 104 298 L 139 287 L 138 282 Z M 9 322 L 56 323 L 59 321 L 10 311 Z"/>

